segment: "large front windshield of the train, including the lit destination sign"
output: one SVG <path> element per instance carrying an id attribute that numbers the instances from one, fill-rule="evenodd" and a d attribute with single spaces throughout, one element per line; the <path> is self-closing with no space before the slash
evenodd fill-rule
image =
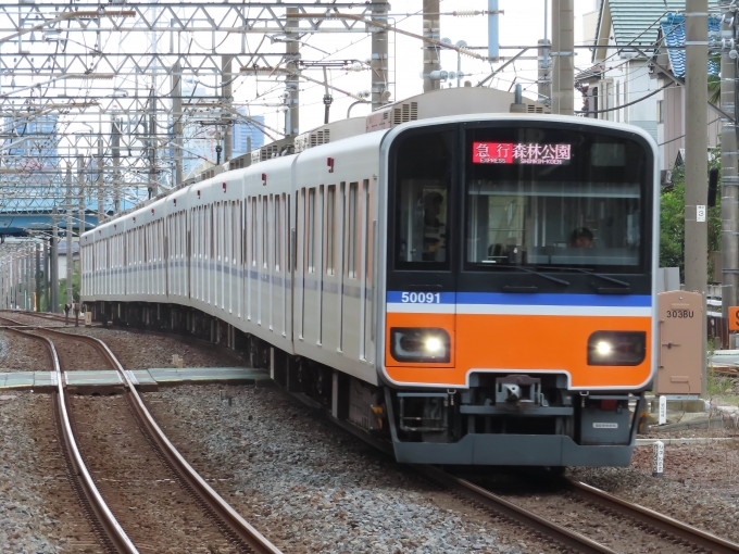
<path id="1" fill-rule="evenodd" d="M 643 266 L 648 154 L 586 130 L 467 129 L 465 265 Z"/>

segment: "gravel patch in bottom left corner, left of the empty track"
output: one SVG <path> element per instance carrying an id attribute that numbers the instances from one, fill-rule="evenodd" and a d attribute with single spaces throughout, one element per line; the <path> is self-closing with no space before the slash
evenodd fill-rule
<path id="1" fill-rule="evenodd" d="M 67 479 L 46 394 L 0 395 L 0 552 L 100 552 Z"/>

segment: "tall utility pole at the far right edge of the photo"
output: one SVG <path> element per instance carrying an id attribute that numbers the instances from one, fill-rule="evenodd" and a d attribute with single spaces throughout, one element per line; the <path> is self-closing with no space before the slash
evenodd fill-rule
<path id="1" fill-rule="evenodd" d="M 722 0 L 722 8 L 728 8 L 731 0 Z M 734 25 L 724 23 L 722 35 L 734 37 Z M 721 56 L 721 109 L 734 118 L 736 114 L 735 95 L 737 92 L 736 62 L 724 50 Z M 722 237 L 722 313 L 728 314 L 730 306 L 739 300 L 739 176 L 737 175 L 737 127 L 727 118 L 722 118 L 721 163 L 721 237 Z M 726 317 L 726 316 L 725 316 Z M 731 348 L 730 344 L 725 347 Z"/>

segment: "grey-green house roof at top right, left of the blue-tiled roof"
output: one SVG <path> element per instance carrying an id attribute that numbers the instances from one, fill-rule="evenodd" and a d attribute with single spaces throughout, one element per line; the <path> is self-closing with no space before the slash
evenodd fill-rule
<path id="1" fill-rule="evenodd" d="M 715 9 L 718 0 L 709 0 L 709 4 Z M 604 0 L 598 16 L 596 43 L 600 47 L 609 43 L 611 37 L 608 34 L 613 24 L 616 45 L 634 45 L 651 51 L 659 39 L 662 20 L 671 13 L 684 11 L 685 0 Z M 593 50 L 593 61 L 599 59 L 597 51 Z"/>

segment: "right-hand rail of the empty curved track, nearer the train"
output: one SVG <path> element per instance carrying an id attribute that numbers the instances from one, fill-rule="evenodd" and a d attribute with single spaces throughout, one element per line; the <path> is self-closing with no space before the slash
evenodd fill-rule
<path id="1" fill-rule="evenodd" d="M 243 541 L 256 554 L 281 554 L 281 551 L 272 544 L 262 533 L 252 527 L 246 519 L 243 519 L 221 495 L 208 484 L 208 482 L 200 477 L 200 475 L 187 463 L 187 461 L 179 454 L 177 449 L 170 442 L 162 429 L 156 425 L 156 421 L 149 413 L 149 410 L 139 395 L 136 387 L 128 378 L 128 374 L 121 365 L 121 362 L 115 357 L 115 354 L 108 348 L 102 340 L 96 337 L 86 335 L 73 335 L 54 329 L 43 328 L 43 331 L 60 335 L 65 338 L 74 338 L 76 340 L 84 340 L 96 345 L 97 350 L 111 364 L 111 366 L 121 375 L 124 386 L 128 389 L 128 393 L 133 398 L 131 406 L 140 421 L 147 428 L 147 431 L 154 440 L 160 451 L 166 456 L 167 461 L 174 466 L 175 470 L 186 480 L 186 482 L 195 490 L 197 495 L 205 502 L 205 504 L 215 512 L 216 516 L 228 525 L 233 533 Z"/>

